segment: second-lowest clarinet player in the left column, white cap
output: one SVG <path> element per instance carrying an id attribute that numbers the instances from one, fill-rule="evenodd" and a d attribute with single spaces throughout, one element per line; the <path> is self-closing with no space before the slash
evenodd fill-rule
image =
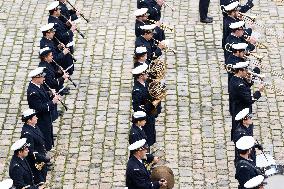
<path id="1" fill-rule="evenodd" d="M 53 53 L 49 47 L 40 49 L 40 60 L 39 67 L 44 67 L 45 70 L 45 83 L 55 89 L 56 92 L 61 91 L 60 95 L 70 94 L 69 90 L 64 90 L 64 82 L 68 81 L 68 73 L 63 72 L 53 64 Z M 47 89 L 48 90 L 48 89 Z"/>

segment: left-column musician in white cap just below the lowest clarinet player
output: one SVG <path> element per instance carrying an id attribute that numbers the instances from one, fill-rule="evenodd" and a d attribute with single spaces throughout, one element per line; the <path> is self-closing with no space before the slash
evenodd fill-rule
<path id="1" fill-rule="evenodd" d="M 22 114 L 22 121 L 24 126 L 21 132 L 21 138 L 26 138 L 27 143 L 30 144 L 28 147 L 29 155 L 26 157 L 31 170 L 34 175 L 34 183 L 45 183 L 47 175 L 46 163 L 50 162 L 50 158 L 46 155 L 44 136 L 40 129 L 36 126 L 37 116 L 36 112 L 32 109 L 27 109 Z M 36 163 L 44 163 L 41 170 L 35 167 Z"/>

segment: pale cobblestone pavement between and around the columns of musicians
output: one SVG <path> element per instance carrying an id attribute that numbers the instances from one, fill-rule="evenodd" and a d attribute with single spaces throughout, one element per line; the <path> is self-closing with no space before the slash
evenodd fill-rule
<path id="1" fill-rule="evenodd" d="M 49 0 L 48 2 L 51 2 Z M 175 188 L 237 188 L 234 146 L 230 141 L 227 76 L 221 64 L 219 0 L 211 0 L 214 24 L 198 22 L 197 0 L 167 0 L 163 18 L 175 27 L 167 33 L 178 54 L 167 53 L 168 95 L 157 121 L 156 147 L 166 149 L 167 165 L 175 174 Z M 255 0 L 250 12 L 260 23 L 283 34 L 284 4 Z M 47 22 L 43 0 L 1 0 L 0 8 L 0 179 L 8 177 L 11 144 L 20 136 L 21 111 L 27 108 L 30 70 L 39 62 L 39 27 Z M 55 168 L 48 175 L 52 189 L 123 188 L 128 159 L 134 0 L 77 0 L 76 6 L 91 19 L 79 26 L 87 38 L 76 37 L 76 73 L 65 102 L 69 110 L 55 123 L 58 134 Z M 279 88 L 283 80 L 284 40 L 257 29 L 269 50 L 264 72 Z M 163 59 L 164 59 L 163 57 Z M 284 93 L 266 90 L 254 105 L 255 136 L 284 164 Z"/>

